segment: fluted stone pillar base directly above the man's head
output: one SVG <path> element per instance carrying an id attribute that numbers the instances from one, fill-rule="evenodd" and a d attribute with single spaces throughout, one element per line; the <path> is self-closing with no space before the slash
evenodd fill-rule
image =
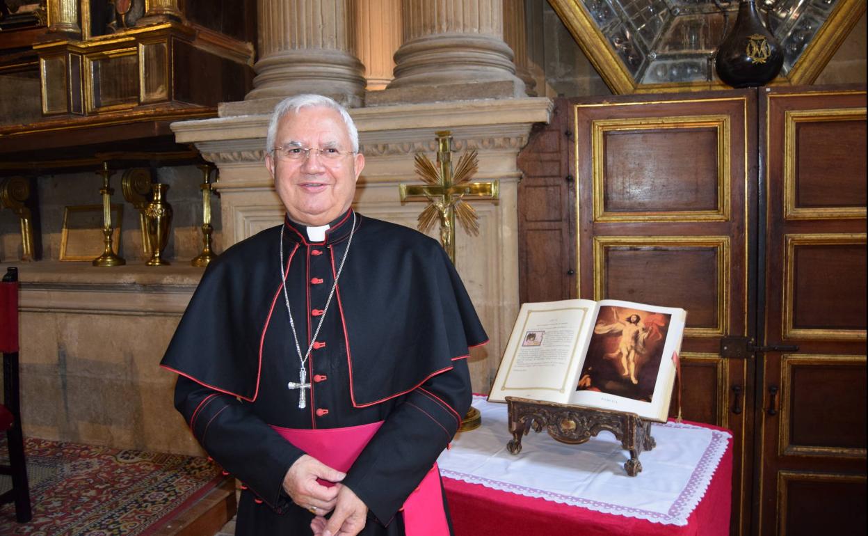
<path id="1" fill-rule="evenodd" d="M 355 56 L 351 0 L 258 0 L 260 60 L 245 100 L 321 93 L 359 106 L 365 91 Z"/>

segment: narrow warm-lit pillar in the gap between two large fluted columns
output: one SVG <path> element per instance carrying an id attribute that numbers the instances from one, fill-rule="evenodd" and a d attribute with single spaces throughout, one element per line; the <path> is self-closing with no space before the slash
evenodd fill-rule
<path id="1" fill-rule="evenodd" d="M 358 0 L 356 39 L 366 89 L 385 89 L 395 69 L 395 50 L 401 46 L 401 0 Z"/>

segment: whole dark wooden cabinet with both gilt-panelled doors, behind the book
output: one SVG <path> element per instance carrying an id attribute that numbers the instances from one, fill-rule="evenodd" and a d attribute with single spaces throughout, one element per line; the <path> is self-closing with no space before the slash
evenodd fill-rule
<path id="1" fill-rule="evenodd" d="M 562 99 L 519 165 L 523 301 L 687 309 L 684 418 L 733 431 L 733 534 L 862 533 L 865 90 Z"/>

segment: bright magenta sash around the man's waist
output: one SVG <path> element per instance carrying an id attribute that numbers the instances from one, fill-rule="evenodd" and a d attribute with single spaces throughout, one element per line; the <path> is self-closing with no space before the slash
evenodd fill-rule
<path id="1" fill-rule="evenodd" d="M 346 473 L 382 424 L 383 421 L 379 421 L 358 427 L 317 430 L 273 428 L 283 439 L 326 466 Z M 332 482 L 318 481 L 323 486 L 334 486 Z M 404 512 L 404 532 L 407 536 L 448 536 L 449 524 L 446 522 L 437 463 L 407 497 L 401 511 Z"/>

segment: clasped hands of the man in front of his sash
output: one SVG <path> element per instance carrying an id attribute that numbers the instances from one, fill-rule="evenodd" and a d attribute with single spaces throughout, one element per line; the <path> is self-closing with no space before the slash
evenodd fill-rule
<path id="1" fill-rule="evenodd" d="M 309 454 L 293 463 L 283 479 L 283 488 L 293 502 L 315 514 L 315 536 L 355 536 L 365 528 L 368 508 L 347 486 L 322 486 L 317 479 L 338 483 L 346 474 L 326 466 Z M 332 512 L 331 519 L 325 514 Z"/>

